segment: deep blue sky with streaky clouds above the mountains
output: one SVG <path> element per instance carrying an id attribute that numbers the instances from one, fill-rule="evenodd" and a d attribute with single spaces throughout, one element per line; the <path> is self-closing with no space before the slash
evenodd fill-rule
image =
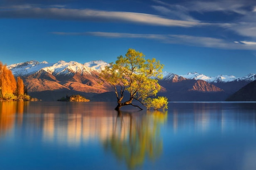
<path id="1" fill-rule="evenodd" d="M 128 48 L 176 74 L 256 73 L 256 1 L 0 2 L 2 63 L 114 62 Z"/>

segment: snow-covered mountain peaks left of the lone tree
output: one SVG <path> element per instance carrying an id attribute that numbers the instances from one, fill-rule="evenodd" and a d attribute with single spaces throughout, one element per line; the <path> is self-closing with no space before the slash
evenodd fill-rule
<path id="1" fill-rule="evenodd" d="M 88 63 L 78 63 L 74 61 L 65 62 L 58 61 L 57 63 L 48 63 L 46 61 L 29 61 L 25 63 L 18 63 L 9 65 L 8 68 L 12 70 L 14 76 L 28 76 L 40 70 L 44 70 L 53 75 L 67 75 L 72 73 L 91 73 L 92 71 L 100 71 L 108 63 L 100 61 L 91 61 Z"/>

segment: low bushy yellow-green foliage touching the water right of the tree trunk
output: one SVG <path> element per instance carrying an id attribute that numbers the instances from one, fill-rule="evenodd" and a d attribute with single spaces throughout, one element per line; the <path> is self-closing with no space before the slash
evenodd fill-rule
<path id="1" fill-rule="evenodd" d="M 167 109 L 168 106 L 168 99 L 166 97 L 157 97 L 157 98 L 147 98 L 144 100 L 144 103 L 147 107 L 147 109 L 154 109 L 154 110 L 158 110 L 158 109 Z"/>

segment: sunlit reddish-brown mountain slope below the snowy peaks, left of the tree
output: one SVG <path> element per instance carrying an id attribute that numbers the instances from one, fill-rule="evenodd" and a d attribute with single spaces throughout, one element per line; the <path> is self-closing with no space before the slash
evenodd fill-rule
<path id="1" fill-rule="evenodd" d="M 83 95 L 91 98 L 95 94 L 113 90 L 112 86 L 99 79 L 98 72 L 53 75 L 44 70 L 24 78 L 28 94 L 44 101 L 53 101 L 66 95 Z"/>

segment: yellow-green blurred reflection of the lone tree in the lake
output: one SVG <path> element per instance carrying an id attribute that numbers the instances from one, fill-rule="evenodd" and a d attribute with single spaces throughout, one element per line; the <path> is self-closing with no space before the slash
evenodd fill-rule
<path id="1" fill-rule="evenodd" d="M 167 111 L 138 114 L 118 111 L 114 133 L 104 142 L 105 149 L 125 161 L 129 169 L 141 166 L 147 157 L 155 160 L 162 153 L 160 126 L 167 120 Z"/>

